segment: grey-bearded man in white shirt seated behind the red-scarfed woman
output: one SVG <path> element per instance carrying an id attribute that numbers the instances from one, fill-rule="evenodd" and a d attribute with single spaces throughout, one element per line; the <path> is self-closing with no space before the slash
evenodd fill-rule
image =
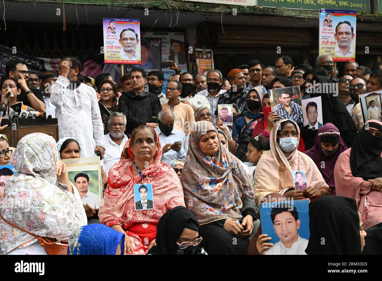
<path id="1" fill-rule="evenodd" d="M 125 135 L 126 115 L 121 112 L 113 112 L 107 122 L 109 133 L 104 135 L 105 155 L 101 161 L 102 185 L 105 185 L 108 179 L 110 168 L 120 161 L 123 148 L 128 137 Z"/>

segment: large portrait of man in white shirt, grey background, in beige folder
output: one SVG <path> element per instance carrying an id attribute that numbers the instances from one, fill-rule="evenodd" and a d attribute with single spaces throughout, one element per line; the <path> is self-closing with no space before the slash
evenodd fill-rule
<path id="1" fill-rule="evenodd" d="M 63 159 L 68 177 L 77 188 L 83 204 L 99 210 L 102 193 L 102 177 L 99 157 Z"/>

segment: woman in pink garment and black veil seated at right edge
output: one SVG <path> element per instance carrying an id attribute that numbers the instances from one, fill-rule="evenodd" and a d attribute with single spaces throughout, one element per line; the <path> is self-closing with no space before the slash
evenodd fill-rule
<path id="1" fill-rule="evenodd" d="M 382 122 L 369 120 L 334 168 L 337 195 L 356 200 L 364 229 L 382 222 Z"/>

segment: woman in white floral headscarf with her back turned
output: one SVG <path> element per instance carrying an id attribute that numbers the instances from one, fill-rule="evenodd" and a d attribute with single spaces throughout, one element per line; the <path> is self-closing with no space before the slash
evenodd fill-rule
<path id="1" fill-rule="evenodd" d="M 86 224 L 68 174 L 58 160 L 55 140 L 43 133 L 24 136 L 11 164 L 16 174 L 8 178 L 0 207 L 0 253 L 45 254 L 37 239 L 10 224 L 40 237 L 68 239 Z"/>

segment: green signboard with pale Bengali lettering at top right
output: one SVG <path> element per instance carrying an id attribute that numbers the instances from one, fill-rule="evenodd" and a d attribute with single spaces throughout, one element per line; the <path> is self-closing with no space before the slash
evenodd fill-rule
<path id="1" fill-rule="evenodd" d="M 379 2 L 382 2 L 382 0 L 379 0 Z M 366 11 L 370 13 L 370 0 L 257 0 L 257 5 L 317 11 L 321 8 L 357 10 L 357 12 Z"/>

